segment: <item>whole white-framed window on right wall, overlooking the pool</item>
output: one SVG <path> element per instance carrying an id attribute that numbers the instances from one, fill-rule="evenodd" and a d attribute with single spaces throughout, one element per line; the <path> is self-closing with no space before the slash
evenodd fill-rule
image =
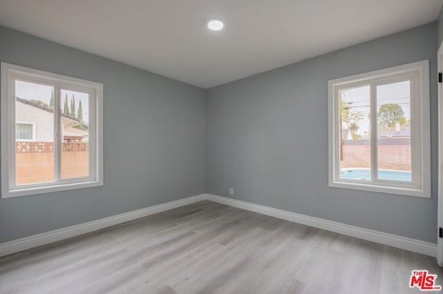
<path id="1" fill-rule="evenodd" d="M 431 197 L 428 61 L 328 88 L 329 186 Z"/>

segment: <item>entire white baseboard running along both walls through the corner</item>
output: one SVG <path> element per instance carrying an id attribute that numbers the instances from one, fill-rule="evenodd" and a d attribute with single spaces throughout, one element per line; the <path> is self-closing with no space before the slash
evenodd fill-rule
<path id="1" fill-rule="evenodd" d="M 150 206 L 139 210 L 129 211 L 128 213 L 122 213 L 120 215 L 114 215 L 111 217 L 105 217 L 103 219 L 97 219 L 92 222 L 86 222 L 84 224 L 78 224 L 75 226 L 69 226 L 66 228 L 60 228 L 55 231 L 49 231 L 30 237 L 24 237 L 21 239 L 12 240 L 0 244 L 0 257 L 24 251 L 37 246 L 50 244 L 60 241 L 62 239 L 68 239 L 84 233 L 100 230 L 109 226 L 115 226 L 117 224 L 123 224 L 134 219 L 141 217 L 147 217 L 148 215 L 154 215 L 155 213 L 161 213 L 166 210 L 185 206 L 202 200 L 209 200 L 220 204 L 226 204 L 229 206 L 242 208 L 244 210 L 250 210 L 255 213 L 261 213 L 263 215 L 269 215 L 271 217 L 278 217 L 280 219 L 286 219 L 289 222 L 296 222 L 298 224 L 305 224 L 307 226 L 313 226 L 315 228 L 322 228 L 327 231 L 340 233 L 360 239 L 365 239 L 380 244 L 393 246 L 396 248 L 421 253 L 435 257 L 437 254 L 437 244 L 420 241 L 417 239 L 410 239 L 407 237 L 401 237 L 398 235 L 392 235 L 379 231 L 373 231 L 368 228 L 360 228 L 358 226 L 350 226 L 339 222 L 332 222 L 327 219 L 320 219 L 318 217 L 309 217 L 307 215 L 300 215 L 299 213 L 291 213 L 290 211 L 280 210 L 267 206 L 252 204 L 248 202 L 242 202 L 237 199 L 230 199 L 226 197 L 220 197 L 211 194 L 201 194 L 193 197 L 179 199 L 177 201 L 168 202 L 165 204 L 159 204 L 156 206 Z"/>

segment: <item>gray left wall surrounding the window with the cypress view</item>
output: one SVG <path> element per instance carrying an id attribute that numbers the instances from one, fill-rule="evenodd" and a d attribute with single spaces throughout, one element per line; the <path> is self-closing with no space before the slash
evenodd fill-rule
<path id="1" fill-rule="evenodd" d="M 205 192 L 206 92 L 0 27 L 0 61 L 104 85 L 105 186 L 0 200 L 0 243 Z"/>

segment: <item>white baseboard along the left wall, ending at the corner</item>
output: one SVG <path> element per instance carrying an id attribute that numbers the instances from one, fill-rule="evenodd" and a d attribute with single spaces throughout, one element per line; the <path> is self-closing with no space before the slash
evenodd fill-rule
<path id="1" fill-rule="evenodd" d="M 78 235 L 82 235 L 84 233 L 97 231 L 102 228 L 107 228 L 109 226 L 123 224 L 124 222 L 129 222 L 141 217 L 147 217 L 148 215 L 154 215 L 155 213 L 161 213 L 165 210 L 170 210 L 180 206 L 199 202 L 205 200 L 206 197 L 207 197 L 206 194 L 201 194 L 184 199 L 179 199 L 173 202 L 167 202 L 165 204 L 159 204 L 156 206 L 150 206 L 147 208 L 129 211 L 128 213 L 122 213 L 120 215 L 114 215 L 111 217 L 105 217 L 102 219 L 93 220 L 91 222 L 86 222 L 83 224 L 77 224 L 75 226 L 60 228 L 55 231 L 49 231 L 46 233 L 41 233 L 30 237 L 24 237 L 21 239 L 12 240 L 10 242 L 0 244 L 0 257 L 5 255 L 10 255 L 12 253 L 16 253 L 19 251 L 24 251 L 26 249 L 35 248 L 37 246 L 42 246 L 53 242 L 57 242 L 62 239 L 75 237 Z"/>

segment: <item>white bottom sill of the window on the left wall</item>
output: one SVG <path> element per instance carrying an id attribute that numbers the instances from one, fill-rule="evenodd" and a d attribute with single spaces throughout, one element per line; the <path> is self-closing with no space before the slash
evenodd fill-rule
<path id="1" fill-rule="evenodd" d="M 91 181 L 91 182 L 80 182 L 80 183 L 69 183 L 69 184 L 56 184 L 53 186 L 42 186 L 42 187 L 32 187 L 32 188 L 17 188 L 14 190 L 4 189 L 1 193 L 1 198 L 12 198 L 21 197 L 29 195 L 37 195 L 44 193 L 53 193 L 66 190 L 76 190 L 82 188 L 92 188 L 103 186 L 102 181 Z"/>

